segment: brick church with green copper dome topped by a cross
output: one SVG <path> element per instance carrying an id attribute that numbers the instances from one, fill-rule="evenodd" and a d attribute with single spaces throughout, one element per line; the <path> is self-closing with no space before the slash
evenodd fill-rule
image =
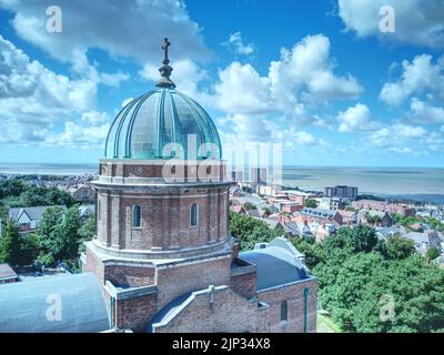
<path id="1" fill-rule="evenodd" d="M 88 292 L 97 324 L 88 331 L 315 332 L 317 286 L 304 255 L 285 237 L 240 252 L 230 234 L 232 182 L 219 133 L 170 79 L 169 45 L 157 88 L 129 102 L 109 130 L 92 182 L 97 236 L 85 243 L 82 274 L 61 277 L 77 277 L 64 292 L 84 311 L 63 322 L 82 332 Z"/>

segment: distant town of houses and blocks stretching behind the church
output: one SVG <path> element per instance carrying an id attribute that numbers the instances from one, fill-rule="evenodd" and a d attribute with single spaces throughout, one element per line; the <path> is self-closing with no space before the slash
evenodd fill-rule
<path id="1" fill-rule="evenodd" d="M 299 186 L 268 183 L 268 170 L 251 169 L 231 172 L 230 211 L 281 227 L 292 236 L 313 237 L 316 243 L 335 235 L 341 226 L 370 225 L 380 239 L 395 234 L 413 241 L 423 255 L 433 248 L 436 262 L 444 264 L 444 205 L 406 203 L 360 194 L 359 186 L 325 186 L 324 191 L 307 191 Z M 244 176 L 250 179 L 244 179 Z M 57 189 L 79 204 L 81 221 L 95 213 L 95 193 L 90 182 L 95 174 L 39 175 L 3 174 L 0 183 L 22 181 L 37 187 Z M 9 202 L 10 203 L 10 202 Z M 17 223 L 22 234 L 34 233 L 50 205 L 20 205 L 3 202 L 3 223 Z M 63 211 L 65 205 L 60 206 Z M 0 223 L 1 235 L 2 223 Z M 1 281 L 0 281 L 1 282 Z"/>

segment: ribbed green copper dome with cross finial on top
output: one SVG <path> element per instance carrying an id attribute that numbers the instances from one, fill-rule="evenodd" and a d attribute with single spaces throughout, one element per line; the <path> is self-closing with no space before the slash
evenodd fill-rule
<path id="1" fill-rule="evenodd" d="M 221 141 L 210 115 L 170 80 L 165 39 L 157 89 L 128 103 L 108 132 L 108 159 L 221 159 Z"/>

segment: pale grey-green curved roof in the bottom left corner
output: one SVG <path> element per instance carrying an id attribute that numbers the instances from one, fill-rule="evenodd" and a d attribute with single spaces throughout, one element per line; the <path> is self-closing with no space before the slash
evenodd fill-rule
<path id="1" fill-rule="evenodd" d="M 61 320 L 48 318 L 50 307 L 58 302 Z M 0 333 L 90 333 L 109 328 L 102 290 L 92 273 L 0 285 Z"/>

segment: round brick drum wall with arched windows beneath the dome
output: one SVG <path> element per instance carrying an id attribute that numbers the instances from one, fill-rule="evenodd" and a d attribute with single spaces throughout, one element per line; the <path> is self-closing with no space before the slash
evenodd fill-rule
<path id="1" fill-rule="evenodd" d="M 117 248 L 190 247 L 229 237 L 229 189 L 162 191 L 98 190 L 98 239 Z M 191 205 L 199 223 L 190 225 Z M 141 226 L 133 227 L 132 210 L 142 209 Z"/>

